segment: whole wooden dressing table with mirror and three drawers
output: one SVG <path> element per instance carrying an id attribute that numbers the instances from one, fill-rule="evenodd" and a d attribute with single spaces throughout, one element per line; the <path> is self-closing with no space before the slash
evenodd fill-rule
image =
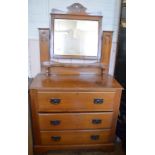
<path id="1" fill-rule="evenodd" d="M 31 86 L 34 153 L 112 151 L 121 85 L 108 75 L 112 32 L 79 3 L 39 29 L 41 70 Z"/>

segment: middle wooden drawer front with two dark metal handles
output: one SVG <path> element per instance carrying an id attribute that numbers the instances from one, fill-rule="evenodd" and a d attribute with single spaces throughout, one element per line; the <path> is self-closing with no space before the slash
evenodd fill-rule
<path id="1" fill-rule="evenodd" d="M 39 114 L 40 130 L 111 128 L 112 112 Z"/>

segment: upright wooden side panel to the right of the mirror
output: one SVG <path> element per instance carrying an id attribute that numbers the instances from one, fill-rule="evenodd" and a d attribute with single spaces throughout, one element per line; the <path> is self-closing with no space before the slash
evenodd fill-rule
<path id="1" fill-rule="evenodd" d="M 110 53 L 112 46 L 112 34 L 113 34 L 112 31 L 103 31 L 101 63 L 107 66 L 107 69 L 104 70 L 104 73 L 108 73 L 109 70 Z"/>

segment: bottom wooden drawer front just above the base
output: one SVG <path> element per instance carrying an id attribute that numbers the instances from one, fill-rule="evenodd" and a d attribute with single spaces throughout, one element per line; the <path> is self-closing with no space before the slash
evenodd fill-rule
<path id="1" fill-rule="evenodd" d="M 110 141 L 110 130 L 77 130 L 41 132 L 42 145 L 101 144 Z"/>

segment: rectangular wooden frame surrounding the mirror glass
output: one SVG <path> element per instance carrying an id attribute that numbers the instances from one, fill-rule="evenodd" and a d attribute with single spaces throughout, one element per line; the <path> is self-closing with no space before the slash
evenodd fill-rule
<path id="1" fill-rule="evenodd" d="M 54 54 L 54 20 L 55 19 L 70 19 L 70 20 L 90 20 L 98 21 L 98 51 L 97 56 L 79 56 L 79 55 L 55 55 Z M 50 26 L 50 59 L 93 59 L 101 58 L 101 38 L 102 38 L 102 16 L 88 14 L 73 14 L 73 13 L 51 13 Z"/>

